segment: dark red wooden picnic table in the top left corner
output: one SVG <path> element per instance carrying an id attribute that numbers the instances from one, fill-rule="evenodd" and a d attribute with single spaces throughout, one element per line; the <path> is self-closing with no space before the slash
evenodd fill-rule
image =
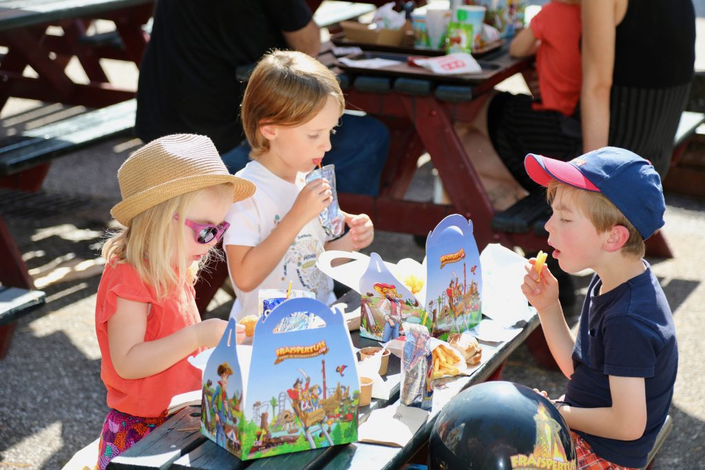
<path id="1" fill-rule="evenodd" d="M 0 109 L 9 97 L 89 107 L 133 98 L 135 89 L 111 84 L 100 59 L 139 65 L 149 41 L 143 26 L 153 8 L 154 0 L 0 0 L 0 45 L 8 49 L 0 62 Z M 87 35 L 99 19 L 114 21 L 118 32 L 106 36 L 106 44 L 101 35 Z M 66 74 L 73 57 L 88 83 Z M 36 77 L 23 75 L 27 66 Z"/>

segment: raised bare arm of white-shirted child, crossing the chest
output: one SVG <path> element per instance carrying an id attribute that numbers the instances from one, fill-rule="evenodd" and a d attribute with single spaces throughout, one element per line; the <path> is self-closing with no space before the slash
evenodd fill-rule
<path id="1" fill-rule="evenodd" d="M 250 292 L 274 271 L 304 226 L 333 201 L 331 185 L 313 180 L 299 192 L 290 211 L 256 247 L 226 245 L 228 267 L 240 290 Z"/>

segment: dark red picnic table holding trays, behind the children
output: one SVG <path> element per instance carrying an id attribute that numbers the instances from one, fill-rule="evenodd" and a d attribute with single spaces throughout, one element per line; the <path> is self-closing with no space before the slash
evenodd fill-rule
<path id="1" fill-rule="evenodd" d="M 381 58 L 395 56 L 369 54 Z M 515 73 L 531 70 L 533 61 L 511 57 L 508 44 L 479 57 L 478 61 L 482 73 L 462 77 L 436 75 L 406 64 L 340 70 L 348 108 L 384 120 L 392 132 L 379 196 L 338 194 L 345 211 L 368 214 L 379 230 L 414 235 L 427 235 L 444 216 L 458 213 L 472 219 L 480 250 L 488 243 L 519 246 L 527 252 L 548 247 L 546 237 L 534 230 L 507 233 L 492 228 L 497 211 L 467 156 L 476 150 L 465 149 L 453 127 L 456 122 L 472 122 L 494 86 Z M 404 199 L 424 151 L 439 173 L 450 198 L 448 205 Z"/>

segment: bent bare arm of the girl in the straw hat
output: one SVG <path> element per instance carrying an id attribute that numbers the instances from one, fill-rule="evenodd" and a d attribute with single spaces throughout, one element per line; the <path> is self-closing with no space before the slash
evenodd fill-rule
<path id="1" fill-rule="evenodd" d="M 119 376 L 137 379 L 165 371 L 199 347 L 218 344 L 228 322 L 209 319 L 154 341 L 145 341 L 149 304 L 117 297 L 108 320 L 110 359 Z"/>

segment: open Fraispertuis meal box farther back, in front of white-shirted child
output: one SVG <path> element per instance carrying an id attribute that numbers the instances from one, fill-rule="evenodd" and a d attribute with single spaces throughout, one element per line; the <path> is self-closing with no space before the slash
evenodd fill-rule
<path id="1" fill-rule="evenodd" d="M 334 259 L 355 261 L 331 266 Z M 444 218 L 426 240 L 422 264 L 398 264 L 357 252 L 324 252 L 321 271 L 360 292 L 360 335 L 388 342 L 403 335 L 403 323 L 420 323 L 447 340 L 482 319 L 482 268 L 472 221 L 460 214 Z"/>

